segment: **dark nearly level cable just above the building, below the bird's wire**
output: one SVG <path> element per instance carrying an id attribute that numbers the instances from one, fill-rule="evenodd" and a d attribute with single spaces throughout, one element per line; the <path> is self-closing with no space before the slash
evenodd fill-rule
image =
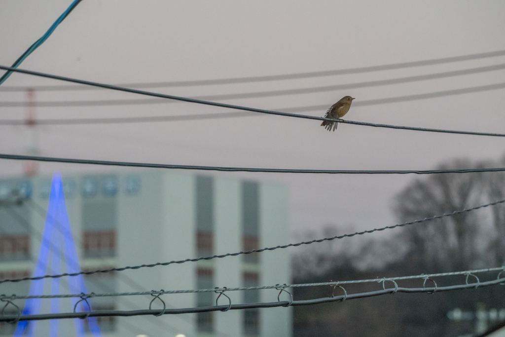
<path id="1" fill-rule="evenodd" d="M 438 173 L 476 173 L 476 172 L 502 172 L 505 167 L 497 168 L 474 168 L 474 169 L 449 169 L 449 170 L 306 170 L 306 169 L 274 169 L 252 167 L 224 167 L 224 166 L 198 166 L 198 165 L 172 165 L 172 164 L 149 164 L 134 162 L 115 162 L 105 160 L 70 159 L 56 157 L 39 157 L 25 155 L 0 154 L 0 159 L 9 160 L 33 160 L 39 162 L 90 164 L 106 166 L 126 167 L 149 167 L 163 169 L 224 171 L 224 172 L 266 172 L 266 173 L 311 173 L 311 174 L 438 174 Z"/>

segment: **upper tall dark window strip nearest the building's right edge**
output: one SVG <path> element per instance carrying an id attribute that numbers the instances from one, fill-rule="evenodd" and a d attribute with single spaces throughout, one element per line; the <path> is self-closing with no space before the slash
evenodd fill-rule
<path id="1" fill-rule="evenodd" d="M 242 248 L 244 252 L 259 249 L 260 195 L 257 182 L 242 183 Z M 258 263 L 258 253 L 245 254 L 244 262 Z"/>

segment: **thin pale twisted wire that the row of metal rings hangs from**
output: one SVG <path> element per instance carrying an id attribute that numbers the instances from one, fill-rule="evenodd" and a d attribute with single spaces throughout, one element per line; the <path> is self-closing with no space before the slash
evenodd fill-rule
<path id="1" fill-rule="evenodd" d="M 330 281 L 330 282 L 319 282 L 319 283 L 300 283 L 300 284 L 280 284 L 276 285 L 260 285 L 260 286 L 242 286 L 242 287 L 215 287 L 210 289 L 191 289 L 191 290 L 161 290 L 161 291 L 145 291 L 145 292 L 129 292 L 129 293 L 91 293 L 91 294 L 59 294 L 59 295 L 31 295 L 31 296 L 18 296 L 18 295 L 3 295 L 4 300 L 27 300 L 27 299 L 55 299 L 55 298 L 77 298 L 77 297 L 115 297 L 115 296 L 141 296 L 141 295 L 164 295 L 164 294 L 193 294 L 193 293 L 214 293 L 214 292 L 232 292 L 232 291 L 246 291 L 246 290 L 265 290 L 265 289 L 277 289 L 282 288 L 299 288 L 299 287 L 312 287 L 312 286 L 326 286 L 326 285 L 340 285 L 340 284 L 357 284 L 357 283 L 377 283 L 383 281 L 397 281 L 397 280 L 407 280 L 407 279 L 431 279 L 432 277 L 445 277 L 445 276 L 457 276 L 457 275 L 467 275 L 473 276 L 480 283 L 479 278 L 475 274 L 486 273 L 490 271 L 500 271 L 498 277 L 502 272 L 505 272 L 505 266 L 485 268 L 485 269 L 474 269 L 474 270 L 463 270 L 463 271 L 453 271 L 447 273 L 435 273 L 435 274 L 421 274 L 421 275 L 411 275 L 411 276 L 398 276 L 398 277 L 382 277 L 373 279 L 362 279 L 362 280 L 347 280 L 347 281 Z"/>

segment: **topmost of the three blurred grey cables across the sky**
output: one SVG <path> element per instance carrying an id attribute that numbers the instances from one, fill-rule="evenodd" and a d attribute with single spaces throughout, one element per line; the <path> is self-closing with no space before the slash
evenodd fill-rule
<path id="1" fill-rule="evenodd" d="M 278 81 L 278 80 L 288 80 L 288 79 L 301 79 L 301 78 L 311 78 L 311 77 L 324 77 L 324 76 L 334 76 L 334 75 L 345 75 L 345 74 L 359 74 L 366 72 L 382 71 L 382 70 L 393 70 L 393 69 L 403 69 L 403 68 L 413 68 L 420 66 L 430 66 L 437 64 L 470 61 L 491 57 L 505 56 L 505 51 L 496 51 L 490 53 L 478 53 L 470 54 L 456 57 L 439 58 L 423 61 L 413 61 L 413 62 L 402 62 L 379 66 L 369 66 L 360 68 L 348 68 L 348 69 L 338 69 L 338 70 L 328 70 L 328 71 L 315 71 L 315 72 L 304 72 L 295 74 L 283 74 L 283 75 L 267 75 L 267 76 L 249 76 L 249 77 L 235 77 L 235 78 L 221 78 L 221 79 L 210 79 L 210 80 L 192 80 L 192 81 L 169 81 L 169 82 L 143 82 L 143 83 L 120 83 L 117 86 L 125 86 L 130 88 L 162 88 L 162 87 L 182 87 L 182 86 L 198 86 L 198 85 L 215 85 L 215 84 L 236 84 L 236 83 L 249 83 L 249 82 L 266 82 L 266 81 Z M 57 90 L 86 90 L 93 89 L 83 85 L 38 85 L 38 86 L 4 86 L 0 87 L 0 91 L 25 91 L 28 88 L 33 88 L 38 91 L 57 91 Z"/>

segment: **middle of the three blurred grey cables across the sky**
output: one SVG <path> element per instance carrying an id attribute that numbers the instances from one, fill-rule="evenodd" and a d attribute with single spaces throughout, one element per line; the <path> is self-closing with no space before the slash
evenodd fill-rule
<path id="1" fill-rule="evenodd" d="M 348 84 L 337 84 L 337 85 L 324 85 L 324 86 L 299 88 L 299 89 L 284 89 L 284 90 L 269 90 L 269 91 L 257 91 L 257 92 L 215 94 L 215 95 L 205 95 L 205 96 L 197 96 L 197 97 L 191 97 L 191 98 L 197 99 L 197 100 L 220 101 L 220 100 L 234 100 L 234 99 L 277 97 L 277 96 L 282 96 L 282 95 L 308 94 L 308 93 L 335 91 L 335 90 L 343 90 L 343 89 L 354 89 L 354 88 L 365 88 L 365 87 L 373 87 L 373 86 L 409 83 L 409 82 L 424 81 L 424 80 L 430 80 L 430 79 L 477 74 L 477 73 L 482 73 L 482 72 L 497 71 L 497 70 L 503 70 L 503 69 L 505 69 L 505 64 L 498 64 L 498 65 L 492 65 L 492 66 L 486 66 L 486 67 L 448 71 L 448 72 L 419 75 L 419 76 L 392 78 L 392 79 L 378 80 L 378 81 L 366 81 L 366 82 L 359 82 L 359 83 L 348 83 Z M 483 91 L 481 87 L 474 87 L 474 88 L 479 88 L 480 91 Z M 466 90 L 468 90 L 468 89 L 472 89 L 472 88 L 466 88 Z M 458 90 L 461 90 L 461 89 L 458 89 Z M 458 93 L 452 93 L 452 90 L 439 91 L 439 92 L 428 93 L 428 94 L 431 94 L 431 95 L 442 94 L 443 95 L 445 93 L 447 93 L 447 95 L 458 94 Z M 466 93 L 466 92 L 463 92 L 463 93 Z M 414 97 L 415 96 L 416 95 L 414 95 Z M 406 96 L 406 98 L 408 98 L 408 99 L 410 99 L 410 97 L 411 96 Z M 396 102 L 395 100 L 400 100 L 400 99 L 403 99 L 403 97 L 387 98 L 385 100 L 390 100 L 392 102 Z M 375 101 L 375 100 L 373 100 L 373 101 Z M 31 104 L 31 106 L 40 107 L 40 108 L 56 108 L 56 107 L 96 107 L 96 106 L 143 105 L 143 104 L 166 104 L 166 103 L 174 103 L 174 102 L 163 100 L 163 99 L 147 99 L 147 100 L 42 101 L 42 102 L 32 102 L 30 104 Z M 366 105 L 368 103 L 368 101 L 362 101 L 361 103 L 362 103 L 362 105 L 363 104 Z M 384 103 L 379 103 L 379 104 L 384 104 Z M 6 108 L 6 107 L 8 107 L 8 108 L 26 107 L 26 102 L 24 102 L 24 101 L 0 102 L 0 107 L 4 107 L 4 108 Z"/>

